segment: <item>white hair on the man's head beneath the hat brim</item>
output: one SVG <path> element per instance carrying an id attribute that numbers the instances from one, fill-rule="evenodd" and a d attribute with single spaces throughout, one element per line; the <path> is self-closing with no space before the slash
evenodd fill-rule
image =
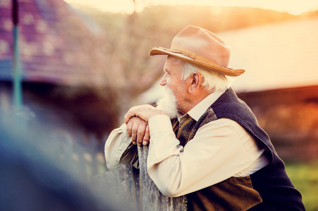
<path id="1" fill-rule="evenodd" d="M 185 80 L 188 79 L 190 75 L 199 73 L 202 76 L 202 86 L 205 87 L 207 91 L 226 91 L 233 82 L 233 79 L 226 77 L 226 75 L 214 71 L 203 70 L 202 68 L 183 60 L 179 61 L 181 61 L 181 67 L 183 69 L 181 79 Z"/>

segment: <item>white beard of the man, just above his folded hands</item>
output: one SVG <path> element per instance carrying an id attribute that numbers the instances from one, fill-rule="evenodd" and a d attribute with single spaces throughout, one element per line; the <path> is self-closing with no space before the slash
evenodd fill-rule
<path id="1" fill-rule="evenodd" d="M 178 115 L 176 96 L 173 95 L 173 92 L 167 86 L 164 86 L 164 91 L 166 91 L 166 94 L 157 101 L 156 105 L 158 109 L 173 119 Z"/>

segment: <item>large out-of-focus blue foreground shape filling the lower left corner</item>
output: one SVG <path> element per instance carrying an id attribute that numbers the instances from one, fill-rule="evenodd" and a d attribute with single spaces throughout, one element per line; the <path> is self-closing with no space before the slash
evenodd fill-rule
<path id="1" fill-rule="evenodd" d="M 108 191 L 96 193 L 87 146 L 18 115 L 11 120 L 0 121 L 0 210 L 124 210 Z"/>

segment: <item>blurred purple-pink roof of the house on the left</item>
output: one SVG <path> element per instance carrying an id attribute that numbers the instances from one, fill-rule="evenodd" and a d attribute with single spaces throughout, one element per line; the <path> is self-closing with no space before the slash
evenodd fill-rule
<path id="1" fill-rule="evenodd" d="M 19 0 L 18 41 L 23 80 L 54 84 L 104 82 L 104 40 L 63 0 Z M 13 70 L 12 0 L 0 1 L 0 79 Z"/>

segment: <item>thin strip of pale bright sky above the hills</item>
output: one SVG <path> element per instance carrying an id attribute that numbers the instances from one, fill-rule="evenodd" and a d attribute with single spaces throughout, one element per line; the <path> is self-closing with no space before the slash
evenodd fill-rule
<path id="1" fill-rule="evenodd" d="M 64 0 L 68 3 L 78 3 L 99 8 L 102 11 L 111 11 L 114 13 L 130 13 L 133 11 L 133 0 Z M 271 9 L 274 11 L 288 12 L 293 15 L 299 15 L 308 11 L 318 10 L 317 0 L 135 0 L 136 11 L 142 11 L 142 8 L 149 4 L 193 4 L 209 6 L 247 6 Z"/>

